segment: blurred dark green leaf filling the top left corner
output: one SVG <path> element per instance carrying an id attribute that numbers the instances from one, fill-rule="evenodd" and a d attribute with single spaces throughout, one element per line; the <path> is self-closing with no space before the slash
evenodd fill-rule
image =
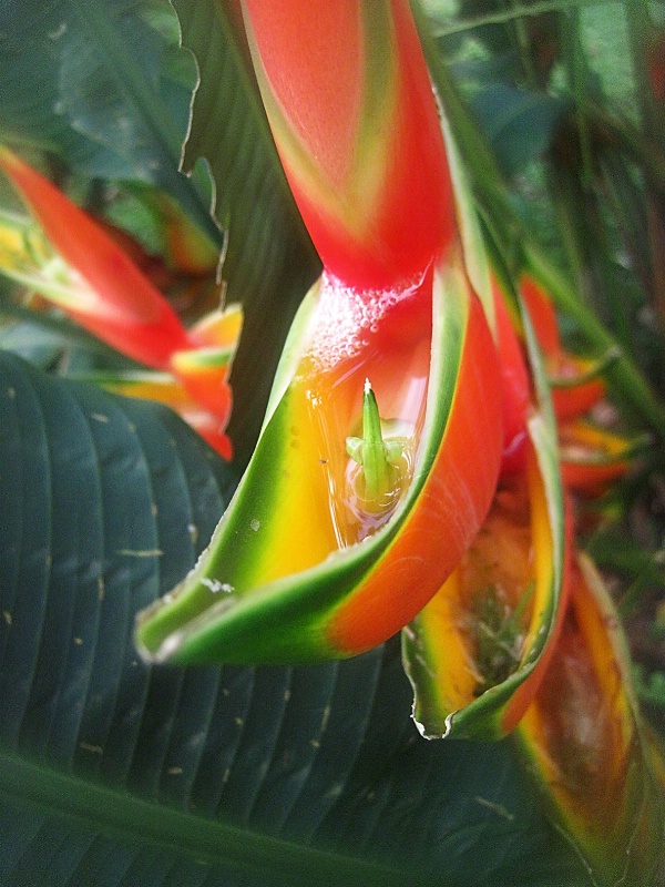
<path id="1" fill-rule="evenodd" d="M 195 69 L 177 49 L 171 16 L 170 39 L 146 2 L 6 4 L 0 139 L 53 151 L 92 176 L 157 185 L 221 245 L 205 183 L 178 169 Z"/>

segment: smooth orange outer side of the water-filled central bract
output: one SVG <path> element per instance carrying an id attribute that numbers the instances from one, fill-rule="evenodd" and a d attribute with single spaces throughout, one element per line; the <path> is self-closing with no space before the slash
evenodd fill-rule
<path id="1" fill-rule="evenodd" d="M 451 421 L 431 469 L 431 482 L 385 562 L 369 573 L 360 593 L 334 614 L 327 635 L 336 648 L 368 650 L 409 622 L 459 562 L 471 542 L 471 528 L 482 523 L 500 461 L 497 361 L 480 303 L 472 297 Z M 405 588 L 410 588 L 409 594 Z"/>

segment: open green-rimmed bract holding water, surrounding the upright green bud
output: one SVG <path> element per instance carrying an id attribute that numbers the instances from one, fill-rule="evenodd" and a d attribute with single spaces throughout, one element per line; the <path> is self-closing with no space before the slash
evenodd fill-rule
<path id="1" fill-rule="evenodd" d="M 452 251 L 385 304 L 364 299 L 324 276 L 304 303 L 253 460 L 196 569 L 141 615 L 143 655 L 362 652 L 427 603 L 471 542 L 499 471 L 501 389 L 461 259 Z M 402 449 L 376 493 L 345 446 L 366 378 Z"/>

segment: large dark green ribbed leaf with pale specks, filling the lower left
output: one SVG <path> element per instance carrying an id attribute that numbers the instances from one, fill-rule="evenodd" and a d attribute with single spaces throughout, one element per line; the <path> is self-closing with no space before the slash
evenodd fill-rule
<path id="1" fill-rule="evenodd" d="M 137 660 L 229 483 L 171 412 L 2 354 L 0 419 L 2 885 L 589 883 L 509 744 L 418 736 L 393 644 Z"/>

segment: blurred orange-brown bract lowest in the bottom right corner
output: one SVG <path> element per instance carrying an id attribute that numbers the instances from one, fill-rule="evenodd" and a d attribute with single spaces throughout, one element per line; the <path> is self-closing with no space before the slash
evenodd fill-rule
<path id="1" fill-rule="evenodd" d="M 655 884 L 663 858 L 662 764 L 640 723 L 618 615 L 577 554 L 552 657 L 515 741 L 557 830 L 601 887 Z"/>

